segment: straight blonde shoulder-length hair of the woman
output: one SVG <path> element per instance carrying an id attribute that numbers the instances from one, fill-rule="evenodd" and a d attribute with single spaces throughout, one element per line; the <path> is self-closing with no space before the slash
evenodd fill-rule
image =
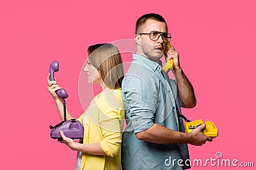
<path id="1" fill-rule="evenodd" d="M 124 66 L 119 50 L 110 43 L 88 47 L 88 59 L 100 72 L 109 89 L 120 89 L 124 78 Z"/>

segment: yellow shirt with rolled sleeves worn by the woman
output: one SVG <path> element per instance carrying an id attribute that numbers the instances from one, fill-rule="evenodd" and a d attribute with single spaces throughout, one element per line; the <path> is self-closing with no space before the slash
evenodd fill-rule
<path id="1" fill-rule="evenodd" d="M 121 90 L 105 89 L 78 120 L 84 123 L 84 144 L 97 143 L 107 156 L 82 153 L 81 169 L 120 169 L 124 105 Z"/>

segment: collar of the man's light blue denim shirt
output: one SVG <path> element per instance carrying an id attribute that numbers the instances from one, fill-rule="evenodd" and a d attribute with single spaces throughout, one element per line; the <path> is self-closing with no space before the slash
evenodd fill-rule
<path id="1" fill-rule="evenodd" d="M 147 59 L 146 57 L 144 57 L 143 55 L 141 55 L 140 53 L 133 53 L 133 60 L 140 60 L 142 61 L 144 64 L 146 64 L 148 67 L 150 67 L 150 69 L 152 69 L 153 71 L 156 71 L 157 69 L 162 69 L 162 61 L 159 60 L 159 63 L 154 62 L 153 60 Z"/>

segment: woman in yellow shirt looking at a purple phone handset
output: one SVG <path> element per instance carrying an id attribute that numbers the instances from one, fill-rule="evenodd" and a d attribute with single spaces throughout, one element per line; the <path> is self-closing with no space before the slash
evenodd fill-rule
<path id="1" fill-rule="evenodd" d="M 124 125 L 121 96 L 124 78 L 122 58 L 116 46 L 109 43 L 97 44 L 89 46 L 86 62 L 84 71 L 88 74 L 88 83 L 99 84 L 102 92 L 94 97 L 78 119 L 84 126 L 83 141 L 76 143 L 60 131 L 63 138 L 61 143 L 77 151 L 76 169 L 120 169 Z M 56 81 L 50 81 L 49 75 L 47 81 L 61 120 L 64 120 L 63 103 L 56 94 L 56 90 L 61 87 Z M 67 111 L 67 120 L 71 118 Z"/>

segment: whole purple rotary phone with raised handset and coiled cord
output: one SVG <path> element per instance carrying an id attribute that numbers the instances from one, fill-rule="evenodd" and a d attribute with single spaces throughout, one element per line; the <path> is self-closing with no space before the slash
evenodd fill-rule
<path id="1" fill-rule="evenodd" d="M 50 80 L 54 81 L 54 72 L 59 71 L 59 62 L 54 61 L 50 65 Z M 67 92 L 64 89 L 60 89 L 56 91 L 56 94 L 61 97 L 63 102 L 63 112 L 64 112 L 64 121 L 52 127 L 50 125 L 51 130 L 51 138 L 53 139 L 61 139 L 60 130 L 63 131 L 65 136 L 72 139 L 83 139 L 84 136 L 84 128 L 83 125 L 76 119 L 67 120 L 66 118 L 66 103 L 65 98 L 68 97 Z"/>

